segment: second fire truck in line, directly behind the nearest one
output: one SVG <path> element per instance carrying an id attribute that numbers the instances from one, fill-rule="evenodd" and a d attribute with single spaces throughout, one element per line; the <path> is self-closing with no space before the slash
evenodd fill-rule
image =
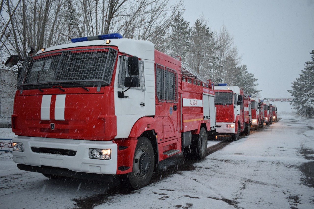
<path id="1" fill-rule="evenodd" d="M 252 123 L 250 97 L 238 86 L 226 83 L 215 87 L 217 135 L 232 136 L 238 140 L 240 133 L 250 135 Z"/>

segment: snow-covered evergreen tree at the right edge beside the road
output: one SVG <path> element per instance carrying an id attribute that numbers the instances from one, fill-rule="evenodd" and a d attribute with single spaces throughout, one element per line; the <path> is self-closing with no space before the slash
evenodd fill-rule
<path id="1" fill-rule="evenodd" d="M 292 90 L 288 92 L 294 96 L 290 103 L 301 116 L 311 118 L 314 115 L 314 50 L 310 52 L 312 61 L 306 62 L 299 78 L 292 82 Z"/>

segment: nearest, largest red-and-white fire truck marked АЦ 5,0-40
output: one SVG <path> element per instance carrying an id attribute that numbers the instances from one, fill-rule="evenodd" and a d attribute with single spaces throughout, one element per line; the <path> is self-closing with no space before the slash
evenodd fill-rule
<path id="1" fill-rule="evenodd" d="M 116 33 L 72 42 L 28 48 L 12 115 L 19 169 L 49 178 L 119 175 L 139 189 L 165 158 L 205 157 L 216 129 L 213 83 L 149 41 Z"/>

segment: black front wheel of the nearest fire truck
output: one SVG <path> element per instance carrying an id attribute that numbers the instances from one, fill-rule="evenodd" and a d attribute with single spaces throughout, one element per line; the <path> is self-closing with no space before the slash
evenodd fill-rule
<path id="1" fill-rule="evenodd" d="M 120 182 L 126 187 L 140 189 L 148 185 L 154 171 L 154 149 L 149 139 L 138 138 L 135 147 L 132 172 L 120 175 Z"/>

